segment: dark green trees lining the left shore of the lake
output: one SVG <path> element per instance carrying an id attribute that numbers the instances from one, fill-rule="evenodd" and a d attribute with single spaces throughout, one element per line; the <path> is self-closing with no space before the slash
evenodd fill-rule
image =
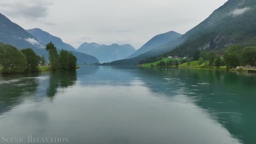
<path id="1" fill-rule="evenodd" d="M 58 54 L 52 42 L 46 45 L 49 52 L 50 68 L 56 70 L 75 70 L 76 56 L 66 50 Z M 37 56 L 31 48 L 18 50 L 16 47 L 0 43 L 0 68 L 4 74 L 38 72 L 38 64 L 45 64 L 44 56 Z"/>

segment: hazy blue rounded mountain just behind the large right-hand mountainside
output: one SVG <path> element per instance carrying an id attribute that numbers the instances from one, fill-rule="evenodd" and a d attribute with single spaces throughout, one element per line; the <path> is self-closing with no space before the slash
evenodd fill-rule
<path id="1" fill-rule="evenodd" d="M 148 42 L 146 42 L 146 44 L 144 44 L 140 49 L 138 49 L 136 52 L 134 52 L 132 55 L 128 56 L 127 58 L 134 58 L 140 54 L 143 54 L 145 52 L 148 52 L 149 50 L 152 50 L 153 48 L 156 48 L 158 46 L 166 44 L 167 42 L 175 40 L 180 36 L 182 36 L 182 34 L 179 34 L 174 31 L 166 32 L 164 34 L 158 34 L 153 38 L 151 38 Z"/>

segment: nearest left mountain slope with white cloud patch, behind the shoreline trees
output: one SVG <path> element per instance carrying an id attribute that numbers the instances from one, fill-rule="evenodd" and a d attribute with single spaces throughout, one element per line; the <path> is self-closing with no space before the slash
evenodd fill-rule
<path id="1" fill-rule="evenodd" d="M 23 48 L 32 48 L 36 54 L 44 55 L 48 58 L 48 52 L 44 49 L 45 43 L 38 40 L 36 37 L 28 33 L 18 24 L 10 21 L 6 16 L 0 13 L 0 42 L 5 44 L 11 44 L 18 48 L 19 50 Z M 58 47 L 57 47 L 58 48 Z M 60 49 L 58 49 L 60 51 Z M 84 63 L 95 63 L 99 62 L 94 56 L 80 52 L 72 52 L 77 57 L 78 64 Z"/>

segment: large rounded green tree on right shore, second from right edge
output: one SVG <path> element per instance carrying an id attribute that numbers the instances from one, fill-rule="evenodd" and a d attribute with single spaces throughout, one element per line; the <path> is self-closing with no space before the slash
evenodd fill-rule
<path id="1" fill-rule="evenodd" d="M 224 53 L 224 60 L 227 68 L 235 68 L 240 64 L 240 46 L 232 45 L 229 46 Z"/>

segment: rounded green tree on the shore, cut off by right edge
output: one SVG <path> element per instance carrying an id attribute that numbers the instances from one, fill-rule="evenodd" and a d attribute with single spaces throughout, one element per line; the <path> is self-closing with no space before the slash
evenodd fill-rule
<path id="1" fill-rule="evenodd" d="M 243 64 L 250 64 L 250 66 L 255 66 L 256 62 L 256 47 L 248 46 L 242 51 L 242 61 Z"/>

